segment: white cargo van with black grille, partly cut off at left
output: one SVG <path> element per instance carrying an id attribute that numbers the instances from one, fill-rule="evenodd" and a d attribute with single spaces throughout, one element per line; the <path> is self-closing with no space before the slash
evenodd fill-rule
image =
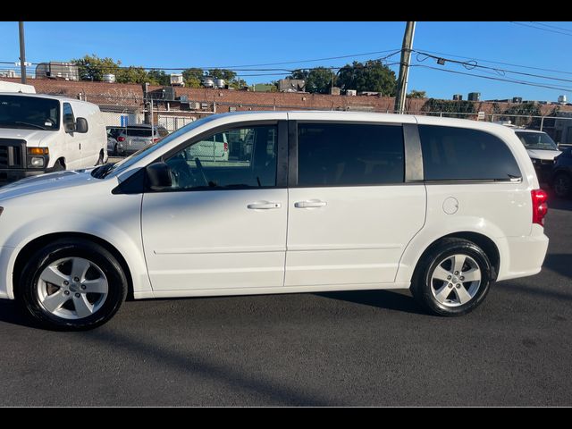
<path id="1" fill-rule="evenodd" d="M 0 93 L 0 184 L 107 160 L 99 107 L 73 98 Z"/>

